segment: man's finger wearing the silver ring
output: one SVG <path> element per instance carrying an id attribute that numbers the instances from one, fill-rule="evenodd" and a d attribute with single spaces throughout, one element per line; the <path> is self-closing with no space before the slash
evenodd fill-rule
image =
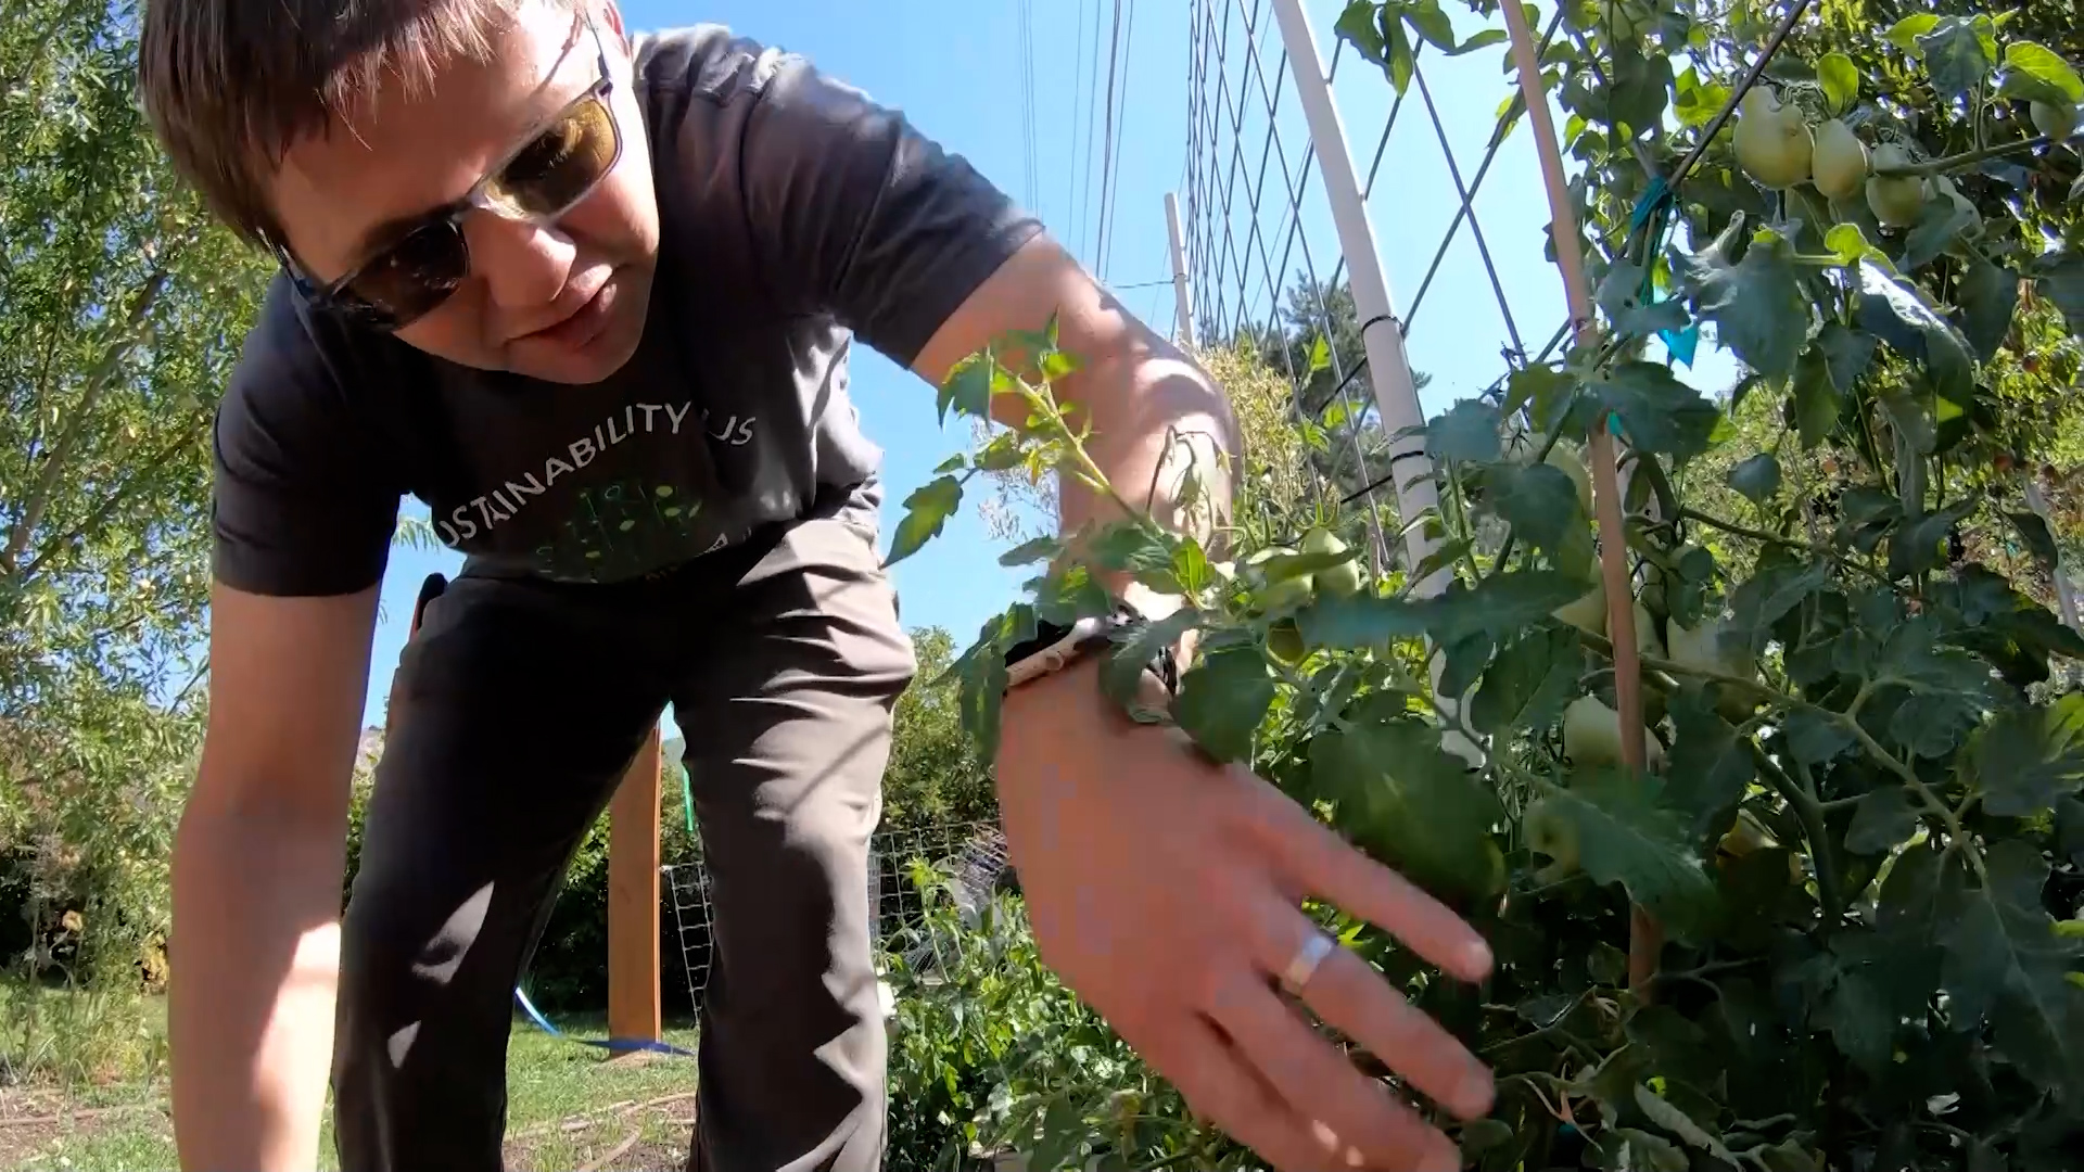
<path id="1" fill-rule="evenodd" d="M 1317 928 L 1294 907 L 1267 899 L 1250 918 L 1252 947 L 1280 976 Z M 1367 1047 L 1436 1103 L 1469 1120 L 1490 1112 L 1490 1070 L 1419 1011 L 1359 955 L 1334 947 L 1302 984 L 1302 1001 L 1328 1024 Z M 1257 1051 L 1252 1051 L 1257 1061 Z"/>

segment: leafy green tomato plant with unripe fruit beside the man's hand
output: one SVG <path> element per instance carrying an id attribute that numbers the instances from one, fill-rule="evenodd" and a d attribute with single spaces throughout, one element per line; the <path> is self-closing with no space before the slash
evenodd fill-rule
<path id="1" fill-rule="evenodd" d="M 1436 17 L 1355 0 L 1338 27 L 1400 88 L 1417 42 L 1498 40 Z M 1325 911 L 1496 1068 L 1494 1118 L 1459 1132 L 1475 1168 L 2074 1168 L 2084 638 L 2044 605 L 2059 534 L 2024 500 L 2076 413 L 2078 44 L 2049 2 L 1573 4 L 1540 65 L 1598 329 L 1425 425 L 1455 507 L 1407 521 L 1440 553 L 1373 576 L 1336 540 L 1211 517 L 1205 544 L 1123 503 L 1009 555 L 1044 569 L 954 667 L 971 728 L 990 744 L 998 651 L 1105 609 L 1096 571 L 1184 596 L 1109 686 L 1196 632 L 1171 709 L 1136 715 L 1490 936 L 1471 991 Z M 1726 394 L 1673 371 L 1703 336 L 1742 363 Z M 898 557 L 979 469 L 1113 494 L 1052 392 L 1071 369 L 1042 329 L 948 380 L 944 411 L 1017 396 L 1027 423 L 907 503 Z M 1626 446 L 1617 534 L 1578 478 L 1594 430 Z M 1628 553 L 1640 728 L 1603 542 Z M 1444 594 L 1409 590 L 1438 569 Z M 1661 947 L 1632 974 L 1638 909 Z"/>

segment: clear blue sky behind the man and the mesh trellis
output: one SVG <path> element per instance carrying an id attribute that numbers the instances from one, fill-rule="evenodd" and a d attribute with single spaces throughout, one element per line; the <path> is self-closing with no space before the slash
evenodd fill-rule
<path id="1" fill-rule="evenodd" d="M 1217 10 L 1225 0 L 1213 0 Z M 1267 136 L 1259 100 L 1255 58 L 1244 50 L 1244 15 L 1261 10 L 1257 67 L 1275 86 L 1282 58 L 1280 35 L 1273 29 L 1271 4 L 1265 0 L 1227 0 L 1230 42 L 1225 52 L 1227 92 L 1244 83 L 1242 133 L 1246 167 L 1234 188 L 1230 225 L 1240 248 L 1246 246 L 1252 217 L 1244 190 L 1257 179 L 1257 156 Z M 1332 60 L 1332 23 L 1340 0 L 1305 0 L 1317 46 Z M 1450 4 L 1463 31 L 1473 19 Z M 1134 19 L 1130 19 L 1134 13 Z M 1113 0 L 1034 0 L 1034 125 L 1040 161 L 1034 190 L 1025 167 L 1025 111 L 1021 86 L 1021 6 L 1015 0 L 894 0 L 861 4 L 838 0 L 790 0 L 786 4 L 756 0 L 713 0 L 681 6 L 656 0 L 634 0 L 623 6 L 625 25 L 638 31 L 673 27 L 690 21 L 715 21 L 742 35 L 775 44 L 809 56 L 823 71 L 865 90 L 871 98 L 904 111 L 915 125 L 946 148 L 967 156 L 982 173 L 1017 198 L 1032 200 L 1044 223 L 1121 292 L 1123 302 L 1159 329 L 1171 327 L 1171 288 L 1150 286 L 1171 275 L 1165 244 L 1165 192 L 1186 192 L 1188 150 L 1188 63 L 1190 19 L 1188 0 L 1125 0 L 1127 79 L 1117 100 L 1119 175 L 1115 179 L 1115 229 L 1105 263 L 1094 254 L 1098 198 L 1088 194 L 1096 184 L 1086 175 L 1088 113 L 1084 98 L 1086 56 L 1092 48 L 1094 19 L 1113 19 Z M 1105 88 L 1107 35 L 1100 35 Z M 1503 69 L 1503 48 L 1480 50 L 1461 58 L 1425 60 L 1425 79 L 1438 106 L 1444 133 L 1453 144 L 1463 179 L 1473 179 L 1490 138 L 1498 102 L 1511 92 L 1511 75 Z M 1211 67 L 1213 69 L 1213 67 Z M 1211 88 L 1213 94 L 1213 88 Z M 1375 144 L 1390 108 L 1390 86 L 1380 69 L 1361 63 L 1350 52 L 1338 65 L 1334 96 L 1346 125 L 1350 152 L 1363 175 L 1375 154 Z M 1223 117 L 1227 125 L 1225 115 Z M 1561 119 L 1559 119 L 1561 123 Z M 1098 125 L 1098 123 L 1094 123 Z M 1282 98 L 1277 119 L 1280 142 L 1292 173 L 1302 171 L 1302 148 L 1309 142 L 1294 94 Z M 1478 200 L 1478 221 L 1484 227 L 1498 284 L 1511 304 L 1523 344 L 1542 346 L 1563 321 L 1563 288 L 1555 267 L 1544 261 L 1546 202 L 1540 169 L 1532 150 L 1532 133 L 1521 125 L 1498 152 L 1492 173 Z M 1230 171 L 1230 133 L 1221 140 L 1221 173 Z M 1098 158 L 1098 150 L 1094 150 Z M 1261 209 L 1263 231 L 1275 240 L 1286 234 L 1286 219 L 1273 206 L 1282 158 L 1269 173 Z M 1319 277 L 1330 277 L 1338 261 L 1338 238 L 1321 196 L 1321 175 L 1309 167 L 1300 246 L 1290 250 L 1288 273 L 1305 269 L 1305 257 Z M 1459 198 L 1440 152 L 1440 142 L 1413 86 L 1398 117 L 1380 179 L 1369 196 L 1369 219 L 1378 252 L 1388 275 L 1390 298 L 1400 315 L 1417 294 L 1419 279 L 1432 263 Z M 1217 209 L 1219 213 L 1219 209 Z M 1211 213 L 1213 215 L 1213 213 Z M 1286 284 L 1286 282 L 1282 282 Z M 1130 288 L 1144 286 L 1144 288 Z M 1265 315 L 1265 286 L 1252 277 L 1246 292 Z M 1209 290 L 1196 290 L 1209 296 Z M 1236 294 L 1230 294 L 1236 298 Z M 1467 227 L 1459 234 L 1434 277 L 1425 300 L 1411 321 L 1409 352 L 1415 369 L 1434 375 L 1423 396 L 1428 415 L 1455 398 L 1486 388 L 1505 369 L 1500 346 L 1509 340 L 1505 319 L 1482 267 Z M 934 392 L 909 371 L 879 355 L 857 350 L 852 394 L 861 407 L 869 436 L 886 450 L 888 503 L 884 534 L 896 526 L 907 492 L 929 478 L 929 469 L 967 440 L 961 425 L 946 432 L 934 419 Z M 1705 361 L 1690 382 L 1726 386 L 1728 363 Z M 408 511 L 423 509 L 417 503 Z M 998 546 L 986 536 L 975 509 L 965 507 L 940 540 L 894 569 L 909 626 L 944 626 L 959 640 L 971 638 L 977 626 L 1002 609 L 1017 592 L 1021 576 L 996 565 Z M 365 724 L 381 715 L 383 694 L 404 644 L 406 619 L 419 582 L 431 571 L 452 573 L 461 559 L 450 551 L 398 548 L 383 582 L 383 615 L 371 663 Z"/>

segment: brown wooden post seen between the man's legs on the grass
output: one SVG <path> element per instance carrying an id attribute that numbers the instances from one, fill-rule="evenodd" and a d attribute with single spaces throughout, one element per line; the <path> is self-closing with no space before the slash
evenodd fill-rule
<path id="1" fill-rule="evenodd" d="M 609 1036 L 659 1041 L 659 728 L 609 801 Z"/>

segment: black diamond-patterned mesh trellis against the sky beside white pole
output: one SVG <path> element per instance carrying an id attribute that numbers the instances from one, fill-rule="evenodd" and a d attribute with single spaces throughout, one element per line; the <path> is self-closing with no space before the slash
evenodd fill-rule
<path id="1" fill-rule="evenodd" d="M 1284 44 L 1280 2 L 1190 4 L 1184 234 L 1196 342 L 1248 342 L 1269 357 L 1296 413 L 1365 471 L 1340 475 L 1334 461 L 1334 475 L 1317 478 L 1319 500 L 1382 505 L 1367 515 L 1388 557 L 1380 532 L 1394 521 L 1394 494 L 1384 492 L 1392 469 L 1380 459 L 1382 415 L 1361 346 L 1369 323 L 1355 319 L 1350 259 L 1317 150 L 1346 150 L 1353 161 L 1421 405 L 1496 390 L 1511 369 L 1565 340 L 1563 290 L 1542 259 L 1540 163 L 1532 136 L 1509 133 L 1523 119 L 1511 106 L 1517 88 L 1503 46 L 1428 56 L 1419 44 L 1396 92 L 1382 67 L 1336 40 L 1325 86 L 1350 138 L 1317 142 L 1294 63 L 1321 58 Z M 1315 42 L 1334 40 L 1344 0 L 1302 4 Z M 1457 19 L 1461 38 L 1484 27 L 1475 21 Z M 1555 35 L 1559 19 L 1542 31 L 1544 48 Z M 1398 302 L 1398 284 L 1413 279 L 1415 292 Z M 1328 344 L 1311 355 L 1298 336 Z"/>

